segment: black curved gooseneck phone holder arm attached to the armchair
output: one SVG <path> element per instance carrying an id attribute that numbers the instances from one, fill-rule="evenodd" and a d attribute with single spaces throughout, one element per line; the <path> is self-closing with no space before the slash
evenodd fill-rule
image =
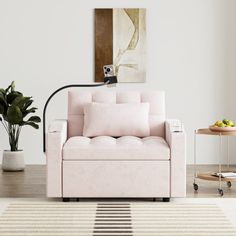
<path id="1" fill-rule="evenodd" d="M 53 98 L 54 95 L 56 95 L 59 91 L 67 89 L 67 88 L 76 88 L 76 87 L 100 87 L 104 85 L 109 85 L 109 84 L 116 84 L 117 83 L 117 77 L 116 76 L 110 76 L 110 77 L 105 77 L 103 83 L 98 83 L 98 84 L 69 84 L 65 85 L 61 88 L 58 88 L 55 90 L 47 99 L 44 108 L 43 108 L 43 152 L 46 151 L 46 112 L 47 112 L 47 106 L 50 102 L 50 100 Z"/>

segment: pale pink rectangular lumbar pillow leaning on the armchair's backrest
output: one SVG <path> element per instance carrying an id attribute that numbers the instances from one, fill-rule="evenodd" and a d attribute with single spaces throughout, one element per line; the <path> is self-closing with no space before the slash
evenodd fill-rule
<path id="1" fill-rule="evenodd" d="M 83 136 L 102 135 L 149 136 L 149 103 L 90 103 L 85 105 Z"/>

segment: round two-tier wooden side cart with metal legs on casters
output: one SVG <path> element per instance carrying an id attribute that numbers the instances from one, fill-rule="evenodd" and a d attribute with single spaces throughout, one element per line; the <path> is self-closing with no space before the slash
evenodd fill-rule
<path id="1" fill-rule="evenodd" d="M 213 176 L 213 173 L 198 173 L 196 168 L 197 163 L 197 136 L 198 135 L 215 135 L 219 136 L 219 176 Z M 219 182 L 219 188 L 218 193 L 223 196 L 224 191 L 222 189 L 222 182 L 226 182 L 227 186 L 230 188 L 232 186 L 232 182 L 236 182 L 236 178 L 225 178 L 222 177 L 222 137 L 227 136 L 227 162 L 228 162 L 228 170 L 229 170 L 229 136 L 236 136 L 236 131 L 225 131 L 225 132 L 218 132 L 218 131 L 211 131 L 210 129 L 197 129 L 194 133 L 194 181 L 193 181 L 193 189 L 195 191 L 198 190 L 198 184 L 196 183 L 196 179 L 202 179 L 202 180 L 208 180 L 208 181 L 218 181 Z M 224 171 L 225 173 L 226 171 Z"/>

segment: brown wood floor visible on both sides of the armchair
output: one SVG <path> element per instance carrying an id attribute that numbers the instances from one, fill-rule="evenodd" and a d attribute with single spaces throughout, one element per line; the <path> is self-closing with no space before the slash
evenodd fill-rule
<path id="1" fill-rule="evenodd" d="M 199 171 L 215 172 L 215 165 L 198 166 Z M 236 166 L 231 166 L 236 171 Z M 212 198 L 218 197 L 218 182 L 197 180 L 198 192 L 193 190 L 193 166 L 187 166 L 187 197 Z M 236 197 L 236 182 L 228 188 L 223 183 L 224 198 Z M 46 168 L 44 165 L 28 165 L 23 172 L 3 172 L 0 170 L 0 197 L 30 197 L 46 196 Z"/>

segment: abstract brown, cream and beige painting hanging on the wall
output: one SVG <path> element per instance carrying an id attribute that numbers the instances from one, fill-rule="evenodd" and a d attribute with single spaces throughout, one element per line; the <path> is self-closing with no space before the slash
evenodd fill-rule
<path id="1" fill-rule="evenodd" d="M 146 9 L 95 9 L 95 81 L 114 65 L 120 82 L 145 82 Z"/>

